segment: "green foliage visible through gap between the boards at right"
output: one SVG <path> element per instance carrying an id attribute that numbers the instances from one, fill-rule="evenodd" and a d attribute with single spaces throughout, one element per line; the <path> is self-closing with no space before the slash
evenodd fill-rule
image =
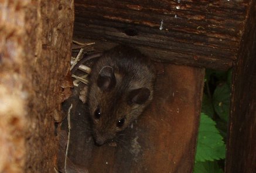
<path id="1" fill-rule="evenodd" d="M 223 173 L 226 152 L 223 137 L 227 133 L 231 70 L 207 69 L 204 82 L 194 173 Z"/>

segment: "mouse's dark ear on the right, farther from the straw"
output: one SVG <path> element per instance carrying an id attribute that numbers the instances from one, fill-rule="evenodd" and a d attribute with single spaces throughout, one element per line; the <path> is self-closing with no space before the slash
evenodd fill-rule
<path id="1" fill-rule="evenodd" d="M 128 104 L 144 104 L 150 96 L 150 90 L 148 88 L 140 88 L 130 91 L 128 95 Z"/>

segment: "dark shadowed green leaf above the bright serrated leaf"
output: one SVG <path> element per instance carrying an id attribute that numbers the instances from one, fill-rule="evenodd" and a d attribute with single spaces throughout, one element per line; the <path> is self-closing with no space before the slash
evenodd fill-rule
<path id="1" fill-rule="evenodd" d="M 221 119 L 227 121 L 230 107 L 230 86 L 219 84 L 213 93 L 213 107 Z"/>

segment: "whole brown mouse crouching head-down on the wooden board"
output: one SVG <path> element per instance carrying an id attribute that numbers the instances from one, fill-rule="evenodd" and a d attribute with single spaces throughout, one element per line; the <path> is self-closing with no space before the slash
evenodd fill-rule
<path id="1" fill-rule="evenodd" d="M 136 48 L 117 45 L 97 58 L 87 91 L 93 138 L 110 142 L 144 112 L 153 98 L 155 68 Z"/>

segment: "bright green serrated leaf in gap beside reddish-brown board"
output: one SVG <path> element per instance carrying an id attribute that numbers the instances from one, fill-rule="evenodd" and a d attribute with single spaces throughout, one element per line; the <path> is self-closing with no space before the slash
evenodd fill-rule
<path id="1" fill-rule="evenodd" d="M 223 137 L 216 128 L 216 123 L 207 115 L 201 114 L 196 148 L 197 161 L 213 161 L 225 158 Z"/>

